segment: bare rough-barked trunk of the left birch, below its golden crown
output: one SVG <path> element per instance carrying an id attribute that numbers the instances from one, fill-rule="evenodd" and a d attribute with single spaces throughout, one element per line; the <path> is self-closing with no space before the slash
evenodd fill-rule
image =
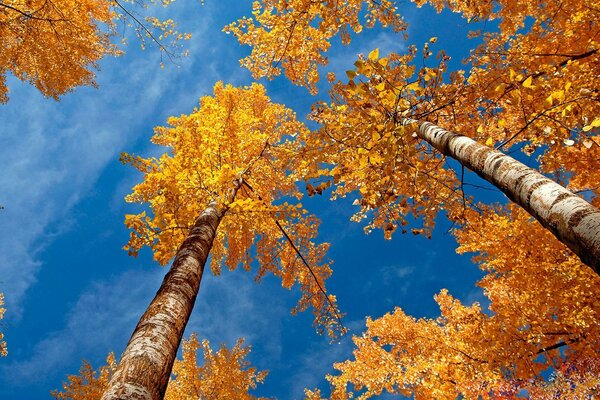
<path id="1" fill-rule="evenodd" d="M 211 203 L 196 219 L 133 331 L 102 400 L 164 397 L 221 218 L 222 212 Z"/>

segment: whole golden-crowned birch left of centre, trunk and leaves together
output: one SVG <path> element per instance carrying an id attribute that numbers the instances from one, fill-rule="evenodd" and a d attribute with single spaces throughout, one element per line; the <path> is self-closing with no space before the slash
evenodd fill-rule
<path id="1" fill-rule="evenodd" d="M 144 174 L 127 201 L 148 204 L 152 213 L 126 217 L 126 249 L 135 255 L 148 246 L 159 263 L 174 261 L 103 399 L 163 398 L 209 252 L 216 275 L 222 264 L 250 270 L 256 258 L 258 280 L 270 272 L 286 288 L 300 286 L 294 312 L 312 307 L 317 329 L 335 335 L 342 328 L 335 297 L 325 292 L 331 270 L 328 245 L 314 241 L 318 221 L 297 200 L 288 203 L 300 193 L 286 175 L 295 144 L 284 136 L 306 129 L 294 113 L 258 84 L 218 83 L 198 109 L 169 124 L 152 138 L 168 153 L 124 156 Z"/>

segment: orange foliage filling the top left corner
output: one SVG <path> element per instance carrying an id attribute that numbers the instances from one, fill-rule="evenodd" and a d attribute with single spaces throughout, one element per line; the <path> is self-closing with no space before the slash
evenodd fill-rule
<path id="1" fill-rule="evenodd" d="M 77 86 L 95 85 L 98 61 L 120 53 L 111 43 L 118 35 L 119 21 L 134 27 L 142 44 L 145 38 L 156 40 L 161 52 L 173 54 L 177 42 L 189 35 L 175 31 L 172 20 L 141 15 L 141 10 L 155 3 L 167 5 L 170 1 L 0 2 L 0 103 L 8 101 L 7 73 L 54 99 Z"/>

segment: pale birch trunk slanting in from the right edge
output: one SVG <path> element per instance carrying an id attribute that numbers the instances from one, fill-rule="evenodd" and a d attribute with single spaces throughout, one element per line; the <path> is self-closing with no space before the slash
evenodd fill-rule
<path id="1" fill-rule="evenodd" d="M 498 187 L 600 275 L 600 210 L 500 151 L 430 122 L 404 122 L 418 124 L 419 138 Z"/>

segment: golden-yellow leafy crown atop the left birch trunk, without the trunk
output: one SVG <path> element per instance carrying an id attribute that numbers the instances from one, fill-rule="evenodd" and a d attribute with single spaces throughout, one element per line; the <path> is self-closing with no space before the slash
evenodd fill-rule
<path id="1" fill-rule="evenodd" d="M 222 83 L 193 113 L 172 117 L 169 124 L 156 128 L 152 138 L 168 153 L 148 159 L 124 155 L 144 173 L 126 200 L 147 203 L 152 212 L 126 216 L 131 236 L 125 249 L 136 255 L 149 246 L 166 264 L 195 219 L 216 202 L 224 216 L 211 249 L 213 273 L 222 264 L 250 270 L 256 259 L 257 280 L 270 272 L 286 288 L 298 284 L 302 297 L 295 311 L 312 307 L 317 329 L 335 336 L 341 328 L 335 297 L 324 290 L 331 275 L 324 261 L 329 245 L 315 243 L 319 221 L 297 202 L 301 193 L 289 174 L 298 146 L 290 139 L 305 135 L 304 124 L 272 103 L 263 86 Z"/>

